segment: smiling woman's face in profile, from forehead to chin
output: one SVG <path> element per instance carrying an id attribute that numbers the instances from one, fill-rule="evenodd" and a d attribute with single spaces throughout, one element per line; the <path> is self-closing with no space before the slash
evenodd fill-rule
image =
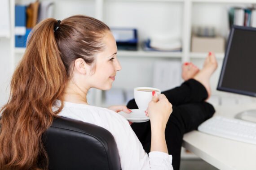
<path id="1" fill-rule="evenodd" d="M 105 49 L 96 55 L 95 72 L 90 76 L 90 83 L 93 88 L 107 90 L 112 87 L 116 72 L 121 70 L 121 65 L 116 56 L 117 47 L 112 33 L 107 31 L 102 41 Z"/>

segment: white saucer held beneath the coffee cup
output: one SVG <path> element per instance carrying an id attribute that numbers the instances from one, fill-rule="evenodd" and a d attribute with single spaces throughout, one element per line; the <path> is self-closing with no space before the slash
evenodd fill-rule
<path id="1" fill-rule="evenodd" d="M 119 115 L 124 116 L 125 119 L 129 120 L 130 122 L 147 122 L 149 121 L 149 117 L 146 116 L 144 110 L 140 109 L 131 109 L 131 113 L 125 113 L 124 111 L 118 112 Z"/>

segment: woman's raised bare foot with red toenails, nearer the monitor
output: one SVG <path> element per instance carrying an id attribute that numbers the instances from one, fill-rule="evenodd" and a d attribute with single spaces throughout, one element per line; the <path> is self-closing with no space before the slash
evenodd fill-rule
<path id="1" fill-rule="evenodd" d="M 208 98 L 211 96 L 210 77 L 218 66 L 215 54 L 209 52 L 207 58 L 204 60 L 203 69 L 200 70 L 194 79 L 202 83 L 208 93 Z"/>

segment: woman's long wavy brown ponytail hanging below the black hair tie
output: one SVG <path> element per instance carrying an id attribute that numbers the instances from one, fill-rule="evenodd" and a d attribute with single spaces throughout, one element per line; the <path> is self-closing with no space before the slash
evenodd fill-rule
<path id="1" fill-rule="evenodd" d="M 67 77 L 54 37 L 56 23 L 47 19 L 35 26 L 13 74 L 9 102 L 2 108 L 1 170 L 36 169 L 39 156 L 44 160 L 42 169 L 47 169 L 41 137 L 59 112 L 54 113 L 52 106 Z"/>

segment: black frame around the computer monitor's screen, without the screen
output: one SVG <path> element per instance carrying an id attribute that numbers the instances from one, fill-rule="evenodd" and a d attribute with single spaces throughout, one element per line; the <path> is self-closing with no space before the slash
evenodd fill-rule
<path id="1" fill-rule="evenodd" d="M 256 28 L 246 27 L 246 26 L 236 26 L 236 25 L 232 26 L 232 28 L 230 30 L 230 35 L 229 35 L 229 38 L 228 38 L 227 46 L 226 46 L 225 57 L 223 59 L 223 64 L 222 64 L 222 68 L 221 68 L 221 74 L 220 74 L 219 82 L 218 82 L 218 85 L 217 85 L 217 90 L 256 97 L 256 92 L 249 92 L 249 91 L 232 89 L 232 88 L 227 88 L 227 87 L 222 87 L 221 86 L 222 81 L 223 81 L 224 72 L 225 72 L 226 63 L 227 63 L 227 60 L 228 60 L 228 57 L 229 57 L 229 54 L 230 54 L 230 47 L 231 47 L 231 43 L 232 43 L 232 39 L 233 39 L 235 30 L 256 31 Z"/>

